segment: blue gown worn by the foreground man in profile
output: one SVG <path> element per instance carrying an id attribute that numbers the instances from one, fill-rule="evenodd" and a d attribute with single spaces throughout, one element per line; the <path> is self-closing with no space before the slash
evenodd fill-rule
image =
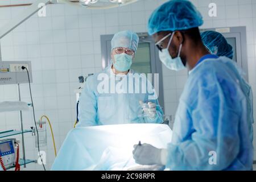
<path id="1" fill-rule="evenodd" d="M 177 108 L 167 168 L 250 170 L 246 96 L 226 57 L 206 59 L 189 74 Z M 216 159 L 216 160 L 214 160 Z"/>

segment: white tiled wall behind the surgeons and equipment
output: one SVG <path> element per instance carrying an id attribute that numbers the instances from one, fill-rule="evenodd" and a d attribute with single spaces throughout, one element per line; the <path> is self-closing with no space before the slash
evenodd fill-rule
<path id="1" fill-rule="evenodd" d="M 0 0 L 0 5 L 27 3 L 34 0 Z M 100 35 L 121 30 L 146 32 L 148 16 L 166 0 L 141 0 L 129 6 L 110 10 L 88 10 L 66 5 L 48 5 L 47 16 L 37 15 L 26 20 L 1 39 L 2 59 L 30 60 L 32 62 L 32 94 L 35 115 L 46 114 L 51 119 L 57 150 L 72 129 L 76 119 L 77 77 L 101 70 Z M 204 16 L 203 28 L 246 26 L 249 81 L 256 96 L 255 0 L 193 0 Z M 208 16 L 210 2 L 217 4 L 217 17 Z M 0 8 L 0 28 L 26 7 Z M 163 67 L 164 106 L 166 114 L 174 115 L 179 96 L 187 79 L 187 71 L 172 72 Z M 16 86 L 0 86 L 0 101 L 17 100 Z M 22 100 L 30 102 L 28 85 L 21 85 Z M 256 100 L 254 100 L 256 107 Z M 18 113 L 0 113 L 0 130 L 18 129 Z M 32 126 L 32 110 L 23 112 L 24 127 Z M 256 115 L 255 115 L 256 118 Z M 255 127 L 254 127 L 255 128 Z M 255 128 L 256 129 L 256 128 Z M 51 134 L 47 129 L 47 169 L 54 160 Z M 27 158 L 37 159 L 34 139 L 25 135 Z M 256 138 L 255 138 L 256 140 Z M 254 143 L 256 147 L 256 143 Z M 256 152 L 255 152 L 256 156 Z M 41 170 L 38 164 L 29 164 L 28 170 Z"/>

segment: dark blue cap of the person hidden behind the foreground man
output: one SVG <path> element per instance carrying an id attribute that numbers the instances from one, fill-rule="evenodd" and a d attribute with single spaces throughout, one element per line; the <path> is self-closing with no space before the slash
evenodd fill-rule
<path id="1" fill-rule="evenodd" d="M 224 36 L 216 31 L 205 31 L 201 33 L 201 38 L 205 47 L 217 56 L 226 56 L 233 59 L 233 47 L 226 41 Z"/>

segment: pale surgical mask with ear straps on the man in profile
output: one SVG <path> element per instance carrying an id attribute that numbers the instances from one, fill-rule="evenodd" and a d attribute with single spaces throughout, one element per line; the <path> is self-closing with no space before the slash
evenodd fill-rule
<path id="1" fill-rule="evenodd" d="M 174 38 L 174 32 L 171 35 L 171 38 L 170 38 L 170 41 L 168 43 L 167 48 L 162 49 L 162 51 L 159 51 L 159 58 L 160 58 L 160 61 L 162 61 L 162 63 L 168 69 L 171 69 L 171 70 L 174 70 L 174 71 L 180 71 L 181 69 L 185 68 L 185 66 L 182 63 L 181 58 L 180 58 L 180 52 L 181 52 L 182 44 L 180 44 L 179 53 L 178 53 L 177 57 L 172 58 L 170 53 L 169 53 L 169 50 L 168 50 L 170 45 L 171 45 L 172 38 Z"/>

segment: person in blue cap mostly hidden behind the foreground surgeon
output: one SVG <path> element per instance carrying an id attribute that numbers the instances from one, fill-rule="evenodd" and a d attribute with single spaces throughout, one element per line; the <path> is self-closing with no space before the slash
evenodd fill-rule
<path id="1" fill-rule="evenodd" d="M 216 31 L 205 31 L 201 33 L 201 38 L 204 43 L 204 45 L 209 49 L 209 51 L 217 56 L 226 56 L 229 59 L 233 59 L 234 57 L 234 51 L 233 47 L 226 41 L 225 37 Z M 234 71 L 237 71 L 236 63 L 231 64 L 230 66 L 233 67 Z M 237 72 L 238 73 L 238 72 Z M 240 73 L 242 74 L 242 73 Z M 253 142 L 253 123 L 254 123 L 254 117 L 253 117 L 253 91 L 251 90 L 251 86 L 247 83 L 245 79 L 242 79 L 241 82 L 241 88 L 243 90 L 243 93 L 246 96 L 247 101 L 247 121 L 250 131 L 250 139 L 251 142 Z"/>

